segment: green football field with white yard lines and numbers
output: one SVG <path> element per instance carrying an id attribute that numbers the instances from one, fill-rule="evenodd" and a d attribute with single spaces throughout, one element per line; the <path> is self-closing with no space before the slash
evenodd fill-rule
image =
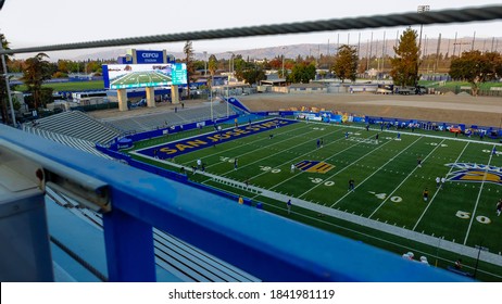
<path id="1" fill-rule="evenodd" d="M 441 242 L 481 245 L 499 255 L 502 252 L 502 216 L 495 212 L 502 198 L 502 155 L 498 152 L 502 147 L 495 141 L 455 138 L 444 131 L 380 131 L 375 127 L 366 130 L 356 125 L 300 122 L 236 137 L 175 159 L 155 160 L 134 153 L 200 132 L 138 142 L 129 152 L 160 167 L 179 170 L 184 166 L 190 180 L 243 195 L 253 205 L 261 203 L 265 211 L 398 254 L 411 250 L 441 267 L 462 256 L 442 249 Z M 317 140 L 323 141 L 322 147 Z M 192 174 L 191 167 L 199 159 L 205 173 Z M 445 182 L 438 187 L 437 177 L 444 177 Z M 351 179 L 353 191 L 349 191 Z M 287 212 L 288 199 L 293 203 L 291 213 Z M 380 231 L 378 225 L 367 223 L 396 229 Z M 416 233 L 409 237 L 410 231 Z M 435 241 L 415 241 L 416 235 L 434 237 Z M 462 257 L 472 273 L 476 261 Z M 479 279 L 502 280 L 499 266 L 479 262 L 477 271 Z"/>

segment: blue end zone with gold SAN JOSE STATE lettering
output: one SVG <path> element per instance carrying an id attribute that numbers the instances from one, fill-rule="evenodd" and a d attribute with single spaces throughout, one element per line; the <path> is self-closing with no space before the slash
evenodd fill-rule
<path id="1" fill-rule="evenodd" d="M 187 138 L 162 145 L 150 147 L 147 149 L 137 150 L 136 153 L 150 157 L 159 157 L 161 160 L 172 159 L 178 155 L 190 153 L 208 147 L 213 147 L 217 143 L 224 143 L 236 138 L 247 137 L 259 132 L 275 129 L 279 126 L 296 124 L 296 121 L 275 118 L 272 121 L 249 124 L 246 127 L 224 129 L 214 131 L 198 137 Z"/>

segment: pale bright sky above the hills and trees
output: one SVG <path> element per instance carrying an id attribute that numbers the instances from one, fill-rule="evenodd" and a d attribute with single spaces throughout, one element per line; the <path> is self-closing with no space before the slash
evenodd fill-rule
<path id="1" fill-rule="evenodd" d="M 485 5 L 500 5 L 500 0 L 5 0 L 0 11 L 0 33 L 10 41 L 10 48 L 40 47 L 70 42 L 86 42 L 102 39 L 129 38 L 160 34 L 223 29 L 265 24 L 281 24 L 303 21 L 386 15 L 416 12 L 418 5 L 429 5 L 430 10 L 463 9 Z M 415 26 L 418 30 L 419 26 Z M 502 20 L 498 22 L 475 22 L 451 25 L 424 26 L 424 36 L 437 38 L 461 37 L 479 38 L 502 37 Z M 398 30 L 405 27 L 377 28 L 350 31 L 322 31 L 315 34 L 294 34 L 261 36 L 254 38 L 231 38 L 193 41 L 196 52 L 231 52 L 246 49 L 281 47 L 298 43 L 356 43 L 361 41 L 394 39 Z M 476 34 L 474 34 L 476 31 Z M 350 40 L 349 40 L 350 38 Z M 502 43 L 502 39 L 500 39 Z M 162 46 L 136 46 L 137 49 L 166 49 L 168 52 L 183 52 L 184 42 Z M 78 53 L 98 52 L 79 50 L 53 52 L 55 56 L 72 56 Z M 48 53 L 51 55 L 51 53 Z M 34 54 L 18 54 L 26 58 Z"/>

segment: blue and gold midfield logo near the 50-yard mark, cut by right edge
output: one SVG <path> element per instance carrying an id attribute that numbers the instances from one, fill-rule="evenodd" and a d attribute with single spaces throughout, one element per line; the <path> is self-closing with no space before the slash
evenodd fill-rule
<path id="1" fill-rule="evenodd" d="M 502 185 L 502 170 L 500 167 L 469 163 L 452 163 L 445 164 L 445 166 L 459 169 L 448 175 L 448 180 L 450 181 L 486 181 Z"/>

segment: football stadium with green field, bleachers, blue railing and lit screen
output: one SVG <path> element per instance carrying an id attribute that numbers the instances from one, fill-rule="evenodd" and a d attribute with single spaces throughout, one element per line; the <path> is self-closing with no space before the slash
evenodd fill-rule
<path id="1" fill-rule="evenodd" d="M 186 84 L 166 66 L 110 88 Z M 500 101 L 256 93 L 1 125 L 2 281 L 502 281 Z"/>

